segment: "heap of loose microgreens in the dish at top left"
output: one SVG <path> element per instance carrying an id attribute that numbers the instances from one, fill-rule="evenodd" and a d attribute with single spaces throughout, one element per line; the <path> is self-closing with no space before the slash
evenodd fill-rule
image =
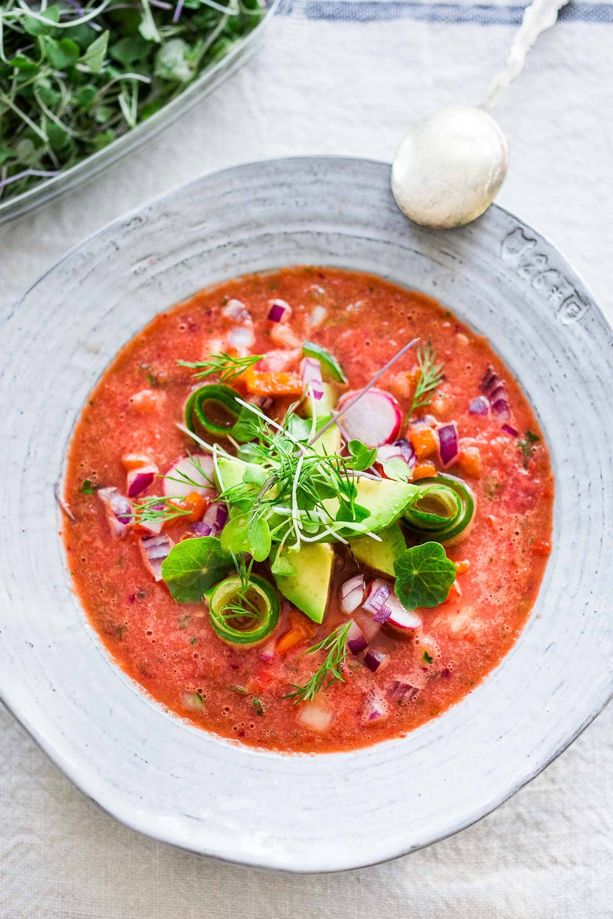
<path id="1" fill-rule="evenodd" d="M 0 199 L 163 108 L 259 22 L 257 0 L 0 5 Z"/>

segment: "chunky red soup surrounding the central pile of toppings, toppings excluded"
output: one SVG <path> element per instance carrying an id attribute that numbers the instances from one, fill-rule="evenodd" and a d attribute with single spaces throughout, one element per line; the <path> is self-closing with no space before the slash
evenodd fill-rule
<path id="1" fill-rule="evenodd" d="M 289 322 L 267 320 L 275 299 L 290 305 Z M 153 580 L 138 539 L 111 532 L 96 494 L 108 486 L 126 493 L 126 454 L 144 453 L 164 472 L 190 448 L 176 423 L 183 420 L 194 371 L 177 366 L 177 359 L 199 361 L 229 349 L 237 327 L 227 309 L 233 300 L 253 318 L 252 354 L 273 351 L 274 366 L 298 371 L 301 342 L 314 341 L 339 360 L 351 390 L 365 386 L 414 336 L 429 338 L 444 380 L 422 410 L 421 424 L 434 429 L 457 422 L 460 459 L 446 471 L 469 483 L 476 499 L 470 532 L 447 548 L 448 558 L 458 562 L 448 600 L 417 610 L 423 627 L 407 639 L 381 631 L 390 658 L 382 672 L 373 674 L 348 655 L 344 682 L 317 697 L 332 715 L 323 732 L 301 720 L 301 704 L 283 697 L 324 660 L 324 652 L 301 652 L 346 621 L 340 586 L 358 571 L 349 553 L 338 547 L 323 624 L 280 598 L 274 638 L 298 626 L 302 639 L 287 652 L 263 655 L 261 646 L 244 650 L 222 642 L 204 603 L 176 603 L 164 581 Z M 492 412 L 469 412 L 488 368 L 505 380 L 509 425 L 517 436 L 506 433 Z M 416 372 L 412 350 L 378 384 L 395 395 L 403 418 Z M 281 416 L 291 401 L 277 400 L 273 411 Z M 405 430 L 403 425 L 403 436 Z M 418 470 L 427 463 L 442 471 L 436 452 L 418 460 Z M 149 494 L 161 494 L 159 481 Z M 201 290 L 155 316 L 121 349 L 74 429 L 65 500 L 74 515 L 63 530 L 74 590 L 128 675 L 165 709 L 221 737 L 280 752 L 330 752 L 403 736 L 458 702 L 501 661 L 539 591 L 550 550 L 553 479 L 528 401 L 485 338 L 414 290 L 356 271 L 294 267 Z M 175 540 L 193 535 L 188 525 L 172 534 Z M 266 566 L 260 568 L 272 581 Z M 410 689 L 399 692 L 398 684 Z M 384 717 L 369 720 L 373 692 Z"/>

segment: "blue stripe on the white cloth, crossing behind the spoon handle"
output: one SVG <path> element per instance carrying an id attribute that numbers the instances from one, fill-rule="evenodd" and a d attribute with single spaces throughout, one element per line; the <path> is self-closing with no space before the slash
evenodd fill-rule
<path id="1" fill-rule="evenodd" d="M 297 0 L 288 12 L 307 19 L 380 22 L 415 19 L 421 22 L 471 23 L 482 26 L 518 26 L 525 6 L 516 4 L 428 3 L 415 0 Z M 574 0 L 560 11 L 562 22 L 613 24 L 613 3 Z"/>

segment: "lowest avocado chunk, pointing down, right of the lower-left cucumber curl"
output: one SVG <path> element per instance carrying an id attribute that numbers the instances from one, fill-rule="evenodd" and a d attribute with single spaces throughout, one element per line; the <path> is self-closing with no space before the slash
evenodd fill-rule
<path id="1" fill-rule="evenodd" d="M 332 546 L 311 542 L 302 545 L 300 550 L 284 549 L 280 554 L 294 570 L 293 574 L 275 574 L 281 594 L 313 622 L 322 622 L 335 559 Z"/>

